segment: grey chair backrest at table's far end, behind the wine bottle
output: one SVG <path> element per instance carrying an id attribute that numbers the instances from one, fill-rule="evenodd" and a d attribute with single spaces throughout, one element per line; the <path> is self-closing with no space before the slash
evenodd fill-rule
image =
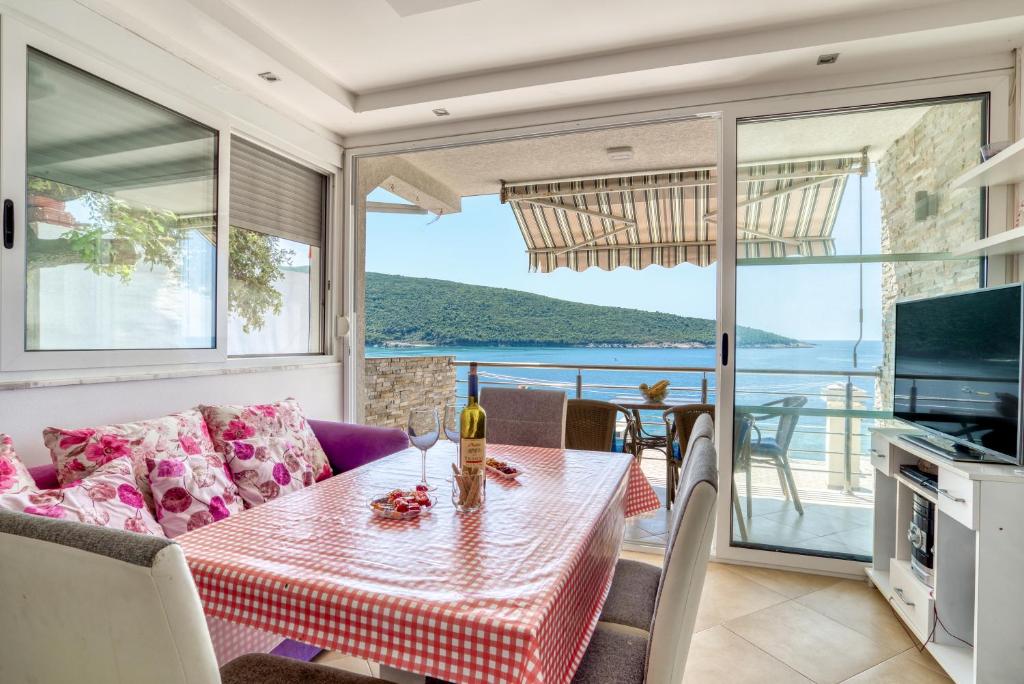
<path id="1" fill-rule="evenodd" d="M 484 387 L 480 405 L 493 444 L 565 447 L 565 392 Z"/>

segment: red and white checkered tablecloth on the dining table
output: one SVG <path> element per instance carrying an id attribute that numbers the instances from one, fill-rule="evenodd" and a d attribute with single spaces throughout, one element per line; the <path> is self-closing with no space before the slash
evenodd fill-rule
<path id="1" fill-rule="evenodd" d="M 407 450 L 177 538 L 208 616 L 453 682 L 568 682 L 611 584 L 627 515 L 658 507 L 629 455 L 488 445 L 519 465 L 456 513 L 382 520 L 373 497 L 419 480 Z"/>

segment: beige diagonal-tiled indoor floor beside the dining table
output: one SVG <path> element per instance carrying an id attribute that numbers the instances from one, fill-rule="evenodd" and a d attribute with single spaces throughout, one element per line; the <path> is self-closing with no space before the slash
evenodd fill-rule
<path id="1" fill-rule="evenodd" d="M 657 564 L 660 556 L 624 552 Z M 712 563 L 684 684 L 949 682 L 866 582 Z M 321 662 L 378 674 L 326 652 Z"/>

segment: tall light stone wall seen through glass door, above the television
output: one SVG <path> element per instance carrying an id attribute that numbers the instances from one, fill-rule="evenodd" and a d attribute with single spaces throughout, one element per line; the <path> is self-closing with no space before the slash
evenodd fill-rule
<path id="1" fill-rule="evenodd" d="M 978 164 L 980 103 L 931 108 L 886 151 L 878 164 L 882 200 L 882 253 L 947 252 L 981 236 L 981 196 L 977 188 L 950 190 L 949 182 Z M 915 195 L 935 195 L 934 214 L 919 220 Z M 882 379 L 879 408 L 888 409 L 892 393 L 895 303 L 972 290 L 979 286 L 978 259 L 932 260 L 882 265 Z"/>

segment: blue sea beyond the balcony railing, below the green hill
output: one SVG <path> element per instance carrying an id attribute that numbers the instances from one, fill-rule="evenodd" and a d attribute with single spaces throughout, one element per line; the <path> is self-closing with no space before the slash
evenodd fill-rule
<path id="1" fill-rule="evenodd" d="M 854 349 L 856 348 L 856 366 Z M 585 398 L 606 401 L 636 399 L 636 387 L 660 379 L 669 380 L 670 398 L 698 402 L 701 379 L 707 378 L 709 400 L 715 400 L 715 349 L 680 349 L 664 347 L 367 347 L 372 356 L 433 356 L 452 355 L 463 361 L 520 361 L 527 364 L 559 364 L 566 366 L 653 366 L 674 368 L 706 368 L 707 373 L 692 371 L 595 371 L 583 370 Z M 849 377 L 849 371 L 877 372 L 882 364 L 882 342 L 878 340 L 808 341 L 801 347 L 740 347 L 736 350 L 736 404 L 756 407 L 791 395 L 806 396 L 808 409 L 826 409 L 826 393 L 843 391 L 849 380 L 855 390 L 859 409 L 874 410 L 874 377 Z M 760 373 L 759 373 L 760 371 Z M 767 373 L 766 371 L 771 371 Z M 781 373 L 780 373 L 781 372 Z M 535 388 L 564 389 L 574 396 L 574 369 L 526 369 L 481 367 L 481 383 L 528 385 Z M 457 393 L 464 395 L 467 369 L 457 372 Z M 837 387 L 837 384 L 839 385 Z M 880 416 L 882 416 L 880 412 Z M 645 412 L 644 422 L 657 429 L 659 412 Z M 824 460 L 824 437 L 827 417 L 801 416 L 792 458 Z M 834 426 L 835 426 L 834 419 Z M 867 427 L 870 420 L 859 421 L 855 450 L 866 452 Z M 664 428 L 662 428 L 664 430 Z"/>

